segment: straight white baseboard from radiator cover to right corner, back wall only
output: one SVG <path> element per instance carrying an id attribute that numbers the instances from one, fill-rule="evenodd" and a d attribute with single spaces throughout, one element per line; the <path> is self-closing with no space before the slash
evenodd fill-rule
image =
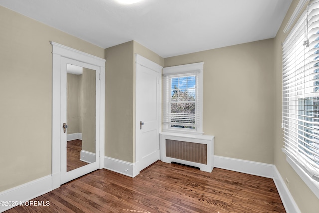
<path id="1" fill-rule="evenodd" d="M 222 156 L 214 156 L 214 167 L 242 172 L 251 175 L 258 175 L 266 178 L 274 177 L 274 165 L 247 161 Z"/>

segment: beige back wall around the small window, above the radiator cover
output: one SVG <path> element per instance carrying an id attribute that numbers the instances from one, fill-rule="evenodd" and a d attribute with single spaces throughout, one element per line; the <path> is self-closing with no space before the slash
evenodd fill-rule
<path id="1" fill-rule="evenodd" d="M 204 62 L 203 131 L 215 155 L 273 164 L 274 40 L 165 58 Z"/>

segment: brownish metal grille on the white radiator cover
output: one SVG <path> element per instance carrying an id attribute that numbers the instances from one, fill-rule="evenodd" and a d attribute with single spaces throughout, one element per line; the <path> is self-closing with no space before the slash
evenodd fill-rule
<path id="1" fill-rule="evenodd" d="M 166 139 L 166 156 L 207 164 L 207 144 Z"/>

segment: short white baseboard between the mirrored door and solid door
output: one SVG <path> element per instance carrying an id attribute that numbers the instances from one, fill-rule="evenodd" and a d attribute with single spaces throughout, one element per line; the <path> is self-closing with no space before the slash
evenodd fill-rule
<path id="1" fill-rule="evenodd" d="M 104 156 L 104 168 L 134 178 L 136 164 Z"/>

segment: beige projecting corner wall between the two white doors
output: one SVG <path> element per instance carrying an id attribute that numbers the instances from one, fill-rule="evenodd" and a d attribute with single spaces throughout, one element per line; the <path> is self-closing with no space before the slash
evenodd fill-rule
<path id="1" fill-rule="evenodd" d="M 135 161 L 135 54 L 164 59 L 136 41 L 105 49 L 105 156 Z"/>

